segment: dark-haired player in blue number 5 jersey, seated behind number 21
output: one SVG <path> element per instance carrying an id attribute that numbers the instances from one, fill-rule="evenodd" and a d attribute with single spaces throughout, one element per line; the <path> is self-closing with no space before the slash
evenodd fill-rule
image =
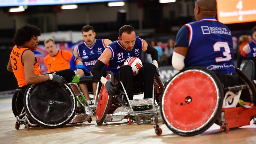
<path id="1" fill-rule="evenodd" d="M 73 70 L 76 69 L 76 74 L 80 77 L 82 76 L 90 76 L 91 68 L 94 66 L 99 56 L 103 53 L 106 46 L 108 46 L 112 41 L 109 39 L 96 39 L 96 33 L 94 29 L 90 25 L 86 25 L 82 28 L 82 37 L 84 39 L 84 43 L 77 45 L 74 48 L 73 56 L 70 60 L 70 66 Z M 77 65 L 75 68 L 74 62 L 78 58 L 82 58 L 83 64 Z M 105 65 L 101 72 L 106 74 L 107 66 Z M 92 104 L 93 102 L 90 100 L 89 92 L 86 83 L 79 84 L 80 88 L 88 102 L 88 104 Z M 95 96 L 97 83 L 92 83 L 93 87 L 93 95 Z"/>

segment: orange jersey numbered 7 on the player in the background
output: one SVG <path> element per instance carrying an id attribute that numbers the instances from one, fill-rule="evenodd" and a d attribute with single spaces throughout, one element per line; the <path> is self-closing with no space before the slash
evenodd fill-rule
<path id="1" fill-rule="evenodd" d="M 72 53 L 67 50 L 59 50 L 55 56 L 48 54 L 44 58 L 44 64 L 47 66 L 48 73 L 69 68 L 69 61 Z"/>

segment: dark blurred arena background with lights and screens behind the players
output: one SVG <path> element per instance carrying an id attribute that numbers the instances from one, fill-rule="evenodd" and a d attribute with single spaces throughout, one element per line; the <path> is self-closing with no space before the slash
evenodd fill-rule
<path id="1" fill-rule="evenodd" d="M 96 38 L 115 41 L 118 37 L 118 29 L 122 25 L 129 24 L 136 29 L 136 34 L 148 43 L 155 39 L 158 42 L 161 41 L 161 46 L 164 48 L 168 39 L 175 40 L 182 25 L 195 21 L 194 0 L 177 0 L 173 3 L 159 3 L 159 0 L 127 0 L 124 1 L 124 6 L 117 7 L 109 7 L 108 2 L 90 2 L 77 4 L 77 9 L 61 9 L 61 4 L 28 5 L 23 6 L 26 8 L 23 12 L 9 12 L 9 9 L 14 6 L 3 6 L 4 3 L 22 3 L 24 1 L 0 0 L 0 60 L 2 62 L 0 91 L 17 88 L 17 81 L 13 73 L 7 71 L 6 67 L 13 47 L 12 39 L 15 30 L 25 23 L 37 25 L 42 30 L 42 36 L 39 37 L 40 45 L 35 51 L 35 55 L 39 59 L 42 72 L 46 73 L 46 67 L 43 64 L 43 57 L 46 56 L 43 41 L 48 37 L 55 39 L 59 49 L 72 51 L 74 46 L 83 40 L 81 28 L 84 25 L 94 27 Z M 223 1 L 234 2 L 233 0 Z M 250 2 L 250 0 L 240 1 L 244 4 Z M 36 4 L 40 0 L 27 0 L 27 2 Z M 69 2 L 72 3 L 72 0 Z M 251 3 L 250 6 L 255 9 L 256 4 Z M 243 10 L 241 7 L 235 9 Z M 251 35 L 251 28 L 256 25 L 256 13 L 250 16 L 252 19 L 246 22 L 232 20 L 232 23 L 227 24 L 232 31 L 232 36 L 239 39 L 242 34 Z M 240 19 L 239 16 L 237 18 Z M 245 19 L 246 16 L 243 18 Z M 239 45 L 238 41 L 237 45 Z M 161 71 L 160 78 L 163 81 L 178 72 L 171 66 L 160 66 L 159 69 Z"/>

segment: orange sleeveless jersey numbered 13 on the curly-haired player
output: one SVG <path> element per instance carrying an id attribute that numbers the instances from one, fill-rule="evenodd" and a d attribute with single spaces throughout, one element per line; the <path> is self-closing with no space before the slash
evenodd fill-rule
<path id="1" fill-rule="evenodd" d="M 22 63 L 22 55 L 26 50 L 30 50 L 30 49 L 25 47 L 19 48 L 17 45 L 15 45 L 10 55 L 12 70 L 18 81 L 19 87 L 23 87 L 27 85 L 25 81 L 24 64 Z M 36 63 L 34 64 L 34 74 L 42 75 L 41 69 L 36 57 L 35 57 L 35 61 Z"/>

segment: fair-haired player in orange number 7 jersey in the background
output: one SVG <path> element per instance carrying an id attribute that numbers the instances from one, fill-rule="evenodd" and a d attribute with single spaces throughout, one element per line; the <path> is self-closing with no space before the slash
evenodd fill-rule
<path id="1" fill-rule="evenodd" d="M 44 41 L 44 46 L 48 52 L 48 55 L 44 58 L 48 73 L 69 68 L 69 61 L 73 55 L 70 51 L 57 49 L 55 41 L 51 38 Z M 76 60 L 76 64 L 79 61 Z"/>

